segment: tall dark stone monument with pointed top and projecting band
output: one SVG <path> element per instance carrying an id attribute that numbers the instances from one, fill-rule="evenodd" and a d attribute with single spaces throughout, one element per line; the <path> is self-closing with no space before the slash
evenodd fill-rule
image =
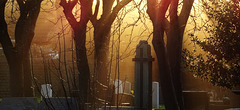
<path id="1" fill-rule="evenodd" d="M 137 45 L 135 61 L 134 105 L 137 110 L 152 109 L 152 61 L 151 47 L 147 41 Z"/>

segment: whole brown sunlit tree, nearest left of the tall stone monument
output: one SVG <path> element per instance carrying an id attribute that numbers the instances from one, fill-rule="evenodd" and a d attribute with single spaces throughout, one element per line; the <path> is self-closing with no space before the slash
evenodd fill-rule
<path id="1" fill-rule="evenodd" d="M 132 0 L 97 0 L 94 14 L 92 15 L 91 22 L 94 27 L 94 44 L 95 44 L 95 72 L 96 72 L 96 94 L 97 99 L 106 100 L 107 85 L 108 85 L 108 53 L 109 42 L 111 38 L 111 27 L 116 19 L 119 11 L 125 7 Z M 100 7 L 102 2 L 102 7 Z M 116 5 L 114 6 L 114 2 Z M 98 19 L 98 14 L 102 9 L 101 17 Z M 100 100 L 99 100 L 100 101 Z"/>

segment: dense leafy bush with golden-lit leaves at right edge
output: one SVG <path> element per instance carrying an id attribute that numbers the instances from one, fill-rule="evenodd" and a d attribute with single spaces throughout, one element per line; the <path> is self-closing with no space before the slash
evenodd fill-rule
<path id="1" fill-rule="evenodd" d="M 203 8 L 212 21 L 205 27 L 209 36 L 201 40 L 190 35 L 206 55 L 185 50 L 185 66 L 213 85 L 229 89 L 240 86 L 239 1 L 212 0 L 205 2 Z"/>

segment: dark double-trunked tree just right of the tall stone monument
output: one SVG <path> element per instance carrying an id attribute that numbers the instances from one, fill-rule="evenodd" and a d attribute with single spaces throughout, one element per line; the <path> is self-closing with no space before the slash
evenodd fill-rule
<path id="1" fill-rule="evenodd" d="M 181 53 L 186 23 L 194 0 L 147 0 L 147 13 L 153 23 L 152 44 L 157 55 L 160 84 L 167 110 L 183 110 Z M 169 17 L 168 18 L 168 14 Z M 166 35 L 167 43 L 164 42 Z"/>

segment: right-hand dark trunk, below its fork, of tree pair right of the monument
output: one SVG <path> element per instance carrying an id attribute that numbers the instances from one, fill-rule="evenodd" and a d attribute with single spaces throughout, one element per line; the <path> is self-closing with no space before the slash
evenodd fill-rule
<path id="1" fill-rule="evenodd" d="M 183 35 L 180 32 L 178 19 L 176 19 L 175 21 L 171 22 L 170 31 L 167 34 L 167 52 L 169 56 L 173 85 L 175 88 L 180 110 L 184 109 L 181 72 L 182 40 Z"/>

